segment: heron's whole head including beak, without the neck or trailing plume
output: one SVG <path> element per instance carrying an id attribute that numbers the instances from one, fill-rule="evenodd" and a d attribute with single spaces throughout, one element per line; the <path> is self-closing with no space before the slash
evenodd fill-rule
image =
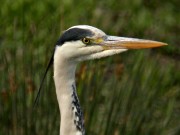
<path id="1" fill-rule="evenodd" d="M 167 45 L 162 42 L 106 35 L 100 29 L 87 25 L 67 29 L 57 41 L 55 54 L 64 59 L 83 61 L 97 59 L 127 49 L 153 48 Z"/>

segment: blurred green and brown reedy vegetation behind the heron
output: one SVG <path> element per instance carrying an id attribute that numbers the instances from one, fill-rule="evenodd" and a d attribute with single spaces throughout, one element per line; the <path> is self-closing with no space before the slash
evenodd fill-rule
<path id="1" fill-rule="evenodd" d="M 88 24 L 110 35 L 169 46 L 78 66 L 87 135 L 180 135 L 179 0 L 4 0 L 0 5 L 0 135 L 58 135 L 52 68 L 61 32 Z"/>

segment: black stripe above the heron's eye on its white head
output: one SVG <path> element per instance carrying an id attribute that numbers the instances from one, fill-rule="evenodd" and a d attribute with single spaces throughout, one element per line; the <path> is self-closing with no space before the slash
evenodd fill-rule
<path id="1" fill-rule="evenodd" d="M 93 36 L 94 34 L 87 29 L 72 28 L 62 34 L 60 39 L 56 42 L 56 45 L 62 45 L 66 41 L 81 40 L 85 37 Z"/>

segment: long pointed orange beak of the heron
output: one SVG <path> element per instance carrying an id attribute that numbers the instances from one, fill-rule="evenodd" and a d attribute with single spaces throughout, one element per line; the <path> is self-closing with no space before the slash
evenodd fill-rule
<path id="1" fill-rule="evenodd" d="M 143 49 L 154 48 L 167 45 L 163 42 L 144 40 L 137 38 L 126 38 L 117 36 L 107 36 L 104 41 L 100 43 L 105 49 Z"/>

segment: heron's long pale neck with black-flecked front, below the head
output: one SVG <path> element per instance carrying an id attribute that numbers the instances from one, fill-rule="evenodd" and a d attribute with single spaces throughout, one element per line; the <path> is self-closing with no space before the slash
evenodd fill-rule
<path id="1" fill-rule="evenodd" d="M 60 135 L 84 135 L 83 116 L 76 94 L 76 65 L 63 59 L 54 61 L 54 82 L 61 113 Z"/>

